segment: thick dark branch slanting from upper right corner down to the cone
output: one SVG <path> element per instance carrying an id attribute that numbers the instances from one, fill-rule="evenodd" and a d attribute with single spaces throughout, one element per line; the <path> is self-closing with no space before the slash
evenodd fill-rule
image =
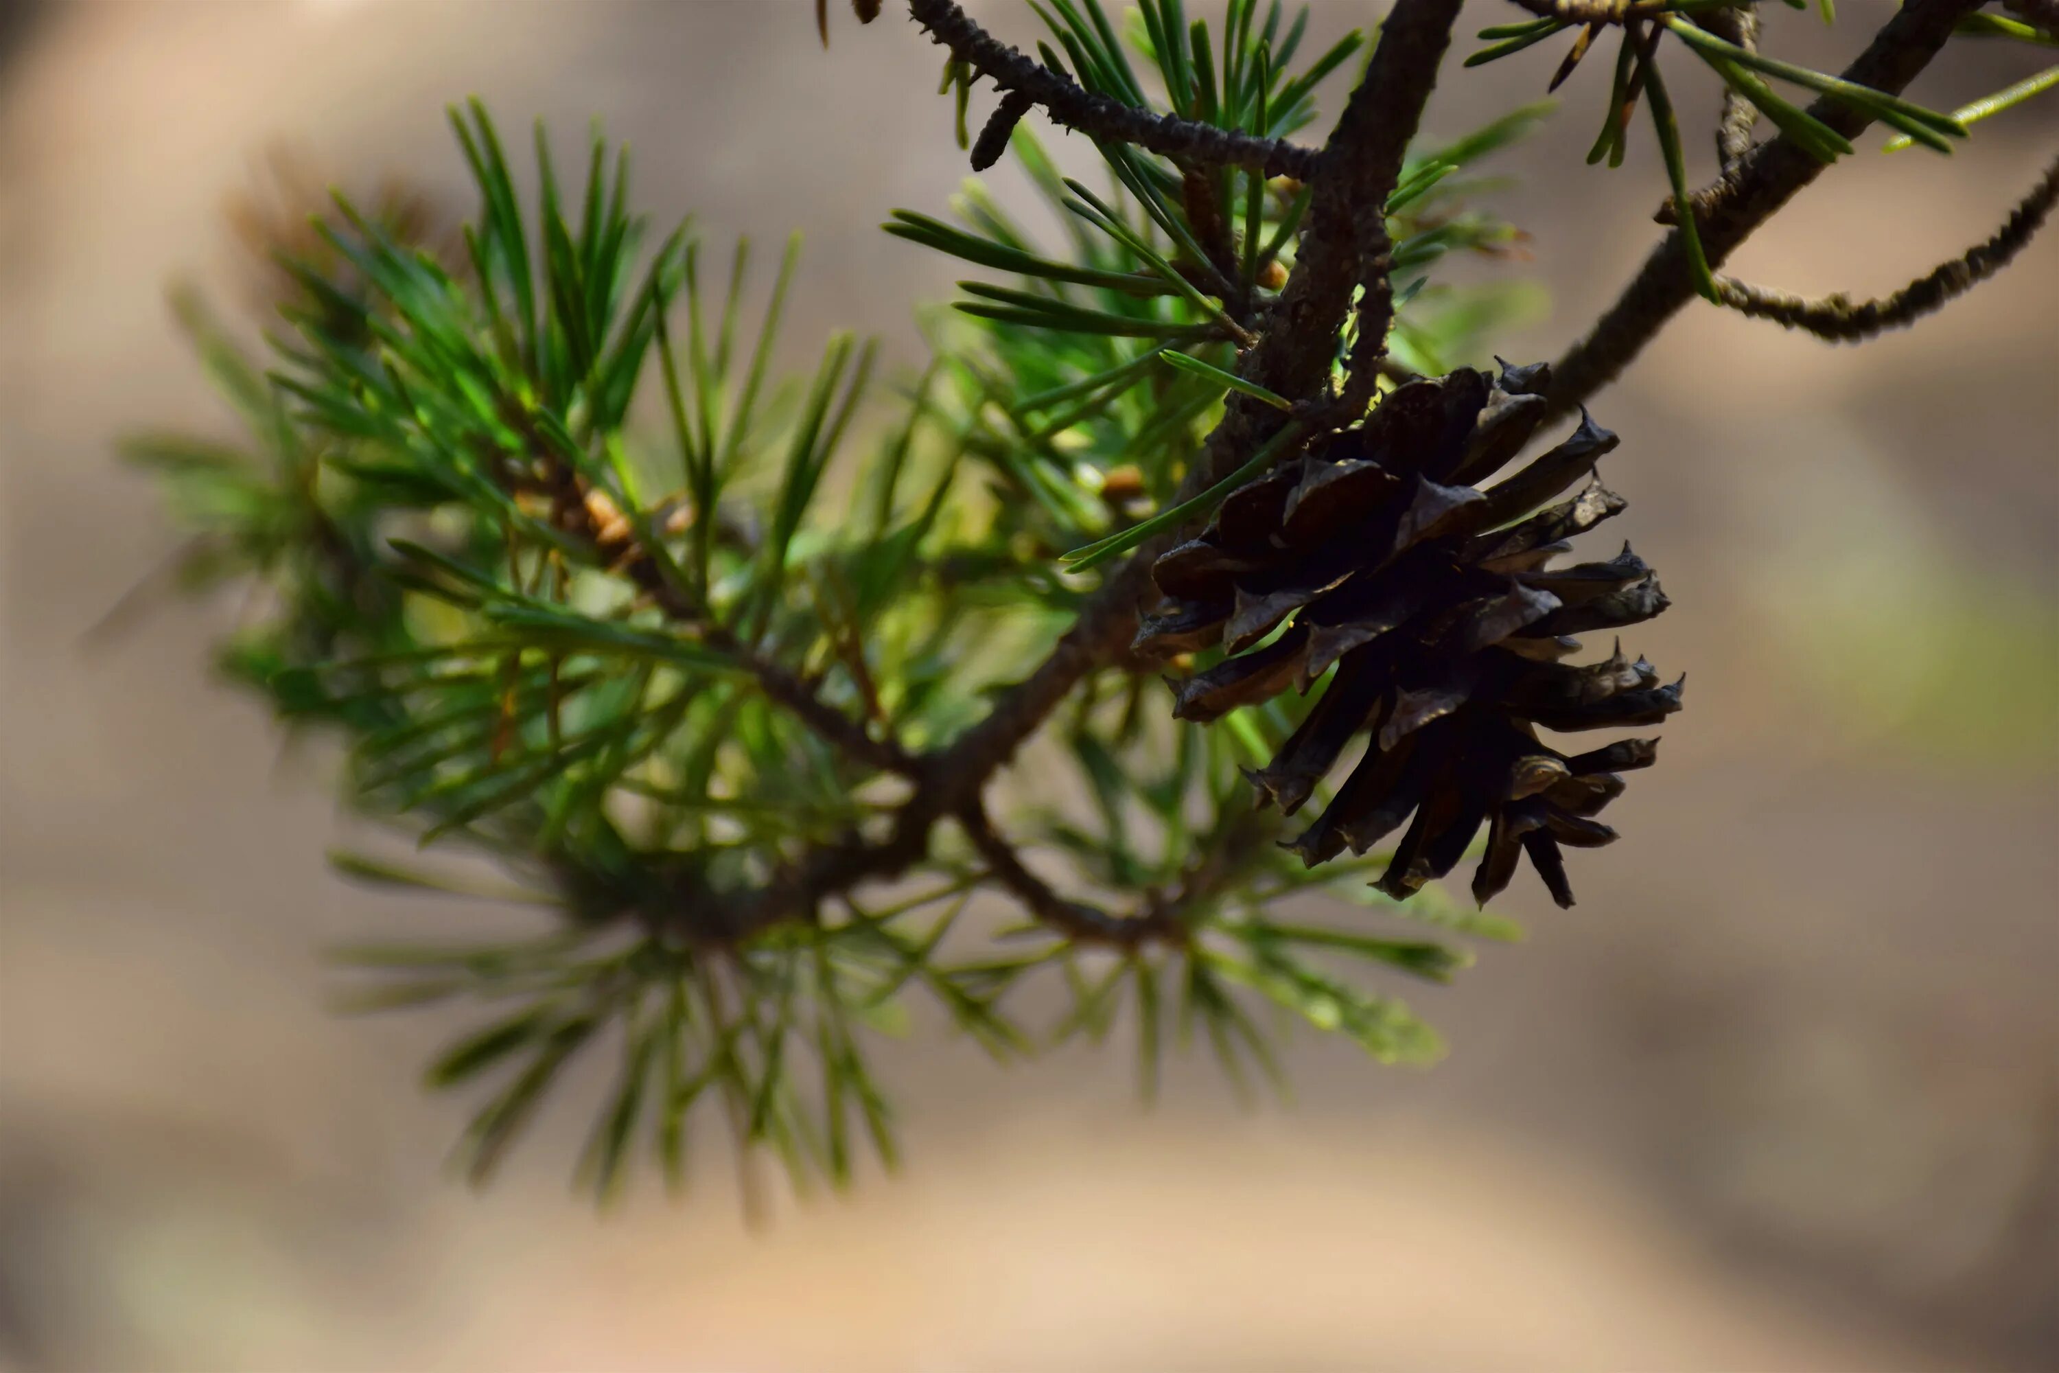
<path id="1" fill-rule="evenodd" d="M 1938 56 L 1952 37 L 1952 27 L 1977 8 L 1981 0 L 1911 0 L 1845 68 L 1845 80 L 1898 95 Z M 1818 99 L 1810 105 L 1810 113 L 1845 138 L 1872 124 L 1868 115 L 1830 99 Z M 1785 136 L 1752 148 L 1738 165 L 1738 175 L 1697 204 L 1701 245 L 1709 263 L 1717 266 L 1730 257 L 1818 173 L 1822 163 Z M 1686 245 L 1674 228 L 1594 329 L 1552 364 L 1546 422 L 1571 414 L 1575 406 L 1622 375 L 1666 321 L 1692 298 Z"/>

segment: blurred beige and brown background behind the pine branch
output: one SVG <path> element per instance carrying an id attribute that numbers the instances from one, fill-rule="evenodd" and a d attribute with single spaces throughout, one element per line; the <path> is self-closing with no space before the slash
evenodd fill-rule
<path id="1" fill-rule="evenodd" d="M 1242 1114 L 1192 1062 L 1143 1112 L 1120 1052 L 994 1072 L 918 1037 L 883 1056 L 904 1175 L 762 1235 L 719 1161 L 684 1202 L 570 1196 L 599 1081 L 486 1194 L 447 1177 L 463 1103 L 416 1072 L 451 1021 L 331 1015 L 319 951 L 496 916 L 325 871 L 321 751 L 210 681 L 233 605 L 82 642 L 173 548 L 111 443 L 229 432 L 163 292 L 235 303 L 222 206 L 270 148 L 469 210 L 441 113 L 465 93 L 562 138 L 603 117 L 661 220 L 807 231 L 795 356 L 854 325 L 918 362 L 910 305 L 953 270 L 875 224 L 937 212 L 964 156 L 937 51 L 896 6 L 834 8 L 824 54 L 801 0 L 0 0 L 0 1367 L 2059 1365 L 2051 235 L 1863 352 L 1692 309 L 1598 401 L 1674 599 L 1633 648 L 1688 669 L 1690 708 L 1577 910 L 1517 883 L 1524 945 L 1400 988 L 1445 1064 L 1303 1044 L 1291 1105 Z M 970 8 L 1032 33 L 1017 0 Z M 1769 23 L 1835 66 L 1888 8 Z M 1373 16 L 1324 0 L 1314 29 Z M 1958 51 L 1915 95 L 1958 105 L 2022 51 Z M 1454 68 L 1429 132 L 1555 62 Z M 1534 263 L 1480 274 L 1552 298 L 1499 342 L 1515 360 L 1657 233 L 1647 140 L 1581 165 L 1598 80 L 1501 156 Z M 1734 268 L 1888 290 L 1991 233 L 2055 142 L 2047 105 L 1950 161 L 1865 146 Z"/>

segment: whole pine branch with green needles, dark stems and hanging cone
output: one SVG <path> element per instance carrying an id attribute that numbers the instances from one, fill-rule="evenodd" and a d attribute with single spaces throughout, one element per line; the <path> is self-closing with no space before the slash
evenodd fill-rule
<path id="1" fill-rule="evenodd" d="M 1907 84 L 1973 0 L 1911 0 L 1847 72 L 1870 91 L 1756 56 L 1750 0 L 1742 10 L 1730 0 L 1517 4 L 1540 19 L 1482 33 L 1513 43 L 1487 60 L 1579 25 L 1563 74 L 1600 29 L 1625 29 L 1596 156 L 1620 159 L 1625 119 L 1649 95 L 1678 204 L 1692 206 L 1717 261 L 1814 177 L 1826 148 L 1849 152 L 1841 130 L 1868 115 L 1915 128 L 1931 146 L 1964 132 L 1880 93 Z M 869 21 L 881 0 L 852 8 Z M 1044 49 L 1036 64 L 953 0 L 908 0 L 949 49 L 962 146 L 966 91 L 986 76 L 1003 99 L 974 161 L 1019 156 L 1067 220 L 1073 251 L 1046 255 L 978 189 L 962 202 L 968 228 L 896 212 L 898 237 L 1009 280 L 966 284 L 976 298 L 962 309 L 974 323 L 935 344 L 906 424 L 861 473 L 869 519 L 826 511 L 817 496 L 840 490 L 824 473 L 842 451 L 871 350 L 854 354 L 838 333 L 813 385 L 764 385 L 793 253 L 756 344 L 743 342 L 747 245 L 714 296 L 686 228 L 655 255 L 640 251 L 626 161 L 609 159 L 599 134 L 585 196 L 572 198 L 542 128 L 542 222 L 531 233 L 476 103 L 469 115 L 453 111 L 482 193 L 463 261 L 416 251 L 416 231 L 338 198 L 340 218 L 323 220 L 309 251 L 288 253 L 282 313 L 299 340 L 276 342 L 272 371 L 194 329 L 255 453 L 177 434 L 134 445 L 132 457 L 156 467 L 200 525 L 204 541 L 181 558 L 181 578 L 247 574 L 278 595 L 278 613 L 231 644 L 224 663 L 282 716 L 352 741 L 348 778 L 362 811 L 424 844 L 484 844 L 521 883 L 496 900 L 564 916 L 542 941 L 385 945 L 346 959 L 383 980 L 367 1007 L 515 998 L 513 1017 L 496 1011 L 430 1068 L 439 1087 L 502 1079 L 472 1126 L 476 1175 L 581 1046 L 620 1035 L 624 1070 L 581 1165 L 599 1196 L 614 1192 L 644 1124 L 677 1177 L 684 1116 L 704 1091 L 729 1107 L 739 1145 L 776 1151 L 797 1180 L 819 1169 L 842 1186 L 854 1126 L 894 1161 L 861 1021 L 892 1011 L 904 988 L 922 990 L 1007 1058 L 1034 1046 L 1001 1005 L 1032 970 L 1067 978 L 1073 1009 L 1060 1040 L 1100 1037 L 1130 996 L 1137 1015 L 1124 1019 L 1139 1027 L 1147 1085 L 1159 1072 L 1161 1011 L 1182 1029 L 1205 1027 L 1237 1081 L 1246 1066 L 1275 1072 L 1268 1035 L 1246 1007 L 1281 1007 L 1382 1060 L 1423 1060 L 1437 1042 L 1406 1007 L 1324 963 L 1357 957 L 1445 980 L 1464 965 L 1460 951 L 1275 922 L 1266 908 L 1320 885 L 1357 887 L 1367 867 L 1384 865 L 1371 900 L 1388 914 L 1507 937 L 1507 922 L 1460 916 L 1421 887 L 1441 881 L 1487 825 L 1478 900 L 1528 856 L 1571 904 L 1559 846 L 1612 840 L 1592 817 L 1622 790 L 1618 772 L 1651 762 L 1649 741 L 1571 758 L 1532 749 L 1528 727 L 1657 723 L 1680 706 L 1678 683 L 1657 685 L 1649 663 L 1622 653 L 1571 667 L 1499 646 L 1517 630 L 1536 640 L 1666 609 L 1649 566 L 1627 548 L 1606 564 L 1546 566 L 1561 535 L 1622 508 L 1600 486 L 1505 523 L 1569 490 L 1614 436 L 1587 422 L 1511 478 L 1480 482 L 1528 443 L 1540 412 L 1571 408 L 1614 377 L 1688 298 L 1695 222 L 1668 235 L 1557 366 L 1555 391 L 1544 391 L 1542 366 L 1503 364 L 1499 379 L 1454 368 L 1458 356 L 1489 352 L 1491 311 L 1398 292 L 1392 274 L 1412 278 L 1445 251 L 1507 241 L 1513 228 L 1493 214 L 1454 210 L 1462 179 L 1441 181 L 1538 115 L 1517 109 L 1408 161 L 1460 0 L 1394 0 L 1365 80 L 1320 150 L 1237 130 L 1305 126 L 1312 93 L 1361 49 L 1359 33 L 1297 64 L 1303 21 L 1283 27 L 1279 4 L 1256 16 L 1258 4 L 1233 0 L 1217 43 L 1180 0 L 1139 0 L 1132 45 L 1174 109 L 1159 117 L 1102 2 L 1052 8 L 1056 19 L 1044 16 L 1067 56 Z M 1983 23 L 2024 33 L 2014 21 Z M 1808 124 L 1767 97 L 1756 109 L 1787 134 L 1752 146 L 1752 91 L 1728 99 L 1723 177 L 1690 200 L 1651 64 L 1668 31 L 1719 74 L 1742 62 L 1843 103 L 1818 101 Z M 1122 187 L 1110 202 L 1067 181 L 1017 128 L 1036 105 L 1095 140 Z M 1303 185 L 1283 185 L 1281 173 Z M 1880 303 L 1728 286 L 1746 313 L 1863 336 L 1995 272 L 2055 193 L 2059 163 L 1993 239 Z M 1701 284 L 1713 290 L 1707 272 Z M 667 309 L 682 292 L 675 348 Z M 649 467 L 630 412 L 653 350 L 686 478 L 677 504 L 636 494 Z M 1373 410 L 1377 379 L 1412 385 Z M 1202 436 L 1211 414 L 1221 420 Z M 1324 447 L 1303 461 L 1310 436 Z M 331 469 L 344 480 L 315 480 Z M 760 478 L 774 469 L 766 486 Z M 968 469 L 994 478 L 1003 498 L 955 508 Z M 1419 476 L 1412 492 L 1394 488 L 1408 471 Z M 1293 488 L 1285 504 L 1283 486 Z M 1207 533 L 1155 566 L 1211 513 Z M 1412 550 L 1429 537 L 1437 556 L 1419 566 Z M 1052 550 L 1083 539 L 1091 543 L 1052 566 Z M 1104 560 L 1100 587 L 1081 593 L 1067 568 Z M 1349 587 L 1336 576 L 1347 566 Z M 1489 578 L 1507 593 L 1476 595 Z M 1262 622 L 1283 599 L 1338 587 L 1345 595 L 1312 615 L 1303 611 L 1316 603 L 1301 601 L 1287 611 L 1293 624 Z M 1423 679 L 1464 683 L 1462 696 L 1402 690 L 1396 661 L 1382 655 L 1404 634 L 1377 642 L 1400 624 L 1351 599 L 1367 589 L 1417 607 L 1460 605 L 1450 628 L 1410 630 L 1404 653 L 1441 663 Z M 426 597 L 437 618 L 416 615 L 410 597 Z M 1021 622 L 988 613 L 1032 605 L 1069 615 L 1048 648 L 1021 644 Z M 1340 624 L 1326 618 L 1332 609 L 1367 620 Z M 1316 630 L 1342 632 L 1324 634 L 1318 650 Z M 1373 640 L 1353 638 L 1361 630 Z M 1147 659 L 1215 642 L 1227 655 L 1194 665 L 1172 714 L 1221 718 L 1223 729 L 1180 731 L 1167 758 L 1143 714 L 1159 700 Z M 1303 700 L 1283 694 L 1289 673 L 1299 673 Z M 1318 679 L 1324 692 L 1307 700 Z M 984 706 L 968 712 L 968 702 Z M 1365 731 L 1365 762 L 1330 793 L 1338 749 Z M 1077 768 L 1091 817 L 1013 786 L 988 793 L 1038 737 Z M 1268 755 L 1256 772 L 1240 768 Z M 1275 815 L 1250 807 L 1240 772 L 1283 813 L 1324 793 L 1322 817 L 1275 846 Z M 1402 823 L 1392 854 L 1342 856 L 1347 846 L 1365 854 Z M 943 834 L 949 825 L 964 842 Z M 1023 856 L 1032 846 L 1040 867 L 1062 860 L 1067 875 L 1034 871 Z M 1318 875 L 1318 865 L 1328 867 Z M 344 854 L 338 867 L 480 893 L 412 865 Z M 918 881 L 875 900 L 904 877 Z M 945 937 L 978 889 L 1019 902 L 1048 937 L 959 961 L 957 939 Z M 1106 908 L 1065 889 L 1091 891 Z M 1071 957 L 1081 947 L 1120 957 L 1083 970 Z M 819 1097 L 797 1081 L 797 1058 L 819 1066 Z"/>

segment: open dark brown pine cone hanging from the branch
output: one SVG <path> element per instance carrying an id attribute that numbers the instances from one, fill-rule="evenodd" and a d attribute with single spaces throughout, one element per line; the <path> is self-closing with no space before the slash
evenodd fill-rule
<path id="1" fill-rule="evenodd" d="M 1487 856 L 1472 879 L 1480 904 L 1509 885 L 1524 850 L 1571 906 L 1559 846 L 1616 838 L 1594 815 L 1622 795 L 1618 772 L 1653 762 L 1657 741 L 1567 755 L 1538 741 L 1538 727 L 1655 725 L 1680 708 L 1686 677 L 1657 685 L 1620 640 L 1602 663 L 1563 661 L 1579 648 L 1571 634 L 1668 605 L 1629 543 L 1610 562 L 1548 566 L 1569 535 L 1625 508 L 1592 476 L 1616 436 L 1583 412 L 1571 438 L 1480 488 L 1536 432 L 1546 381 L 1542 364 L 1503 364 L 1495 381 L 1472 368 L 1410 381 L 1357 428 L 1240 486 L 1198 539 L 1153 566 L 1167 603 L 1135 650 L 1165 657 L 1219 642 L 1229 653 L 1174 681 L 1178 718 L 1215 720 L 1289 683 L 1307 692 L 1336 665 L 1279 755 L 1248 772 L 1260 805 L 1293 815 L 1369 731 L 1336 799 L 1287 844 L 1310 867 L 1347 844 L 1363 854 L 1415 813 L 1375 883 L 1404 900 L 1450 873 L 1485 823 Z M 1583 490 L 1538 511 L 1581 478 Z"/>

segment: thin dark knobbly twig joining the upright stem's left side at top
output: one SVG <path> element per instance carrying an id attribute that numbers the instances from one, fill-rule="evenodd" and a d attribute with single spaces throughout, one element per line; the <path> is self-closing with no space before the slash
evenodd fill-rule
<path id="1" fill-rule="evenodd" d="M 943 43 L 980 76 L 1009 93 L 1019 93 L 1044 107 L 1054 124 L 1079 130 L 1089 138 L 1132 142 L 1163 156 L 1176 156 L 1202 167 L 1248 167 L 1268 177 L 1310 179 L 1316 171 L 1316 150 L 1299 148 L 1279 138 L 1231 134 L 1211 124 L 1194 124 L 1176 115 L 1153 115 L 1122 101 L 1112 101 L 1083 89 L 1071 76 L 1032 62 L 1015 47 L 982 29 L 955 0 L 908 0 L 908 16 Z"/>

